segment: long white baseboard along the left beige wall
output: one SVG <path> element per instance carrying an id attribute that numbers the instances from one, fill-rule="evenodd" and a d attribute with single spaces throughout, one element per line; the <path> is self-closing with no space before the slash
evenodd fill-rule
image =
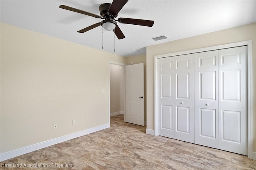
<path id="1" fill-rule="evenodd" d="M 64 142 L 64 141 L 68 141 L 70 139 L 74 139 L 74 138 L 77 138 L 77 137 L 80 137 L 80 136 L 84 136 L 84 135 L 87 135 L 89 133 L 100 131 L 100 130 L 106 129 L 108 127 L 110 127 L 109 123 L 104 124 L 104 125 L 100 125 L 100 126 L 97 126 L 97 127 L 92 127 L 90 129 L 85 129 L 83 131 L 79 131 L 79 132 L 76 132 L 76 133 L 71 133 L 69 135 L 65 135 L 65 136 L 62 136 L 62 137 L 55 138 L 55 139 L 50 139 L 48 141 L 36 143 L 34 145 L 30 145 L 30 146 L 23 147 L 23 148 L 20 148 L 20 149 L 15 149 L 15 150 L 11 150 L 9 152 L 4 152 L 4 153 L 0 154 L 0 162 L 4 161 L 4 160 L 7 160 L 7 159 L 10 159 L 10 158 L 14 158 L 16 156 L 20 156 L 22 154 L 26 154 L 28 152 L 33 152 L 33 151 L 38 150 L 38 149 L 49 147 L 49 146 L 55 145 L 57 143 L 61 143 L 61 142 Z"/>

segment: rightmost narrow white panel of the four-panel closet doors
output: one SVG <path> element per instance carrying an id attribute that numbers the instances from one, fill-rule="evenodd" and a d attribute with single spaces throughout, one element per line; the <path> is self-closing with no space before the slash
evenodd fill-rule
<path id="1" fill-rule="evenodd" d="M 247 47 L 219 50 L 219 149 L 248 155 Z"/>

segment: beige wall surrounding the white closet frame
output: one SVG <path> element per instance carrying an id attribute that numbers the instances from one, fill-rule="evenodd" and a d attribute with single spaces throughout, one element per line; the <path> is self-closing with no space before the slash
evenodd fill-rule
<path id="1" fill-rule="evenodd" d="M 147 128 L 154 130 L 154 56 L 252 40 L 253 151 L 256 152 L 256 23 L 147 47 Z"/>

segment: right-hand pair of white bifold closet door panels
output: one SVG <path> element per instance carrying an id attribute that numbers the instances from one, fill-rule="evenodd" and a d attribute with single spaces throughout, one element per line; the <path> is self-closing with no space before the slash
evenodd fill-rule
<path id="1" fill-rule="evenodd" d="M 247 47 L 195 53 L 195 143 L 247 155 Z"/>

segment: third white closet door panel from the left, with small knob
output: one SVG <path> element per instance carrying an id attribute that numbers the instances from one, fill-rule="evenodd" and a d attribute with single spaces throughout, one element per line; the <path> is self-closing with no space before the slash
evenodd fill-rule
<path id="1" fill-rule="evenodd" d="M 219 148 L 218 50 L 195 53 L 195 143 Z"/>

